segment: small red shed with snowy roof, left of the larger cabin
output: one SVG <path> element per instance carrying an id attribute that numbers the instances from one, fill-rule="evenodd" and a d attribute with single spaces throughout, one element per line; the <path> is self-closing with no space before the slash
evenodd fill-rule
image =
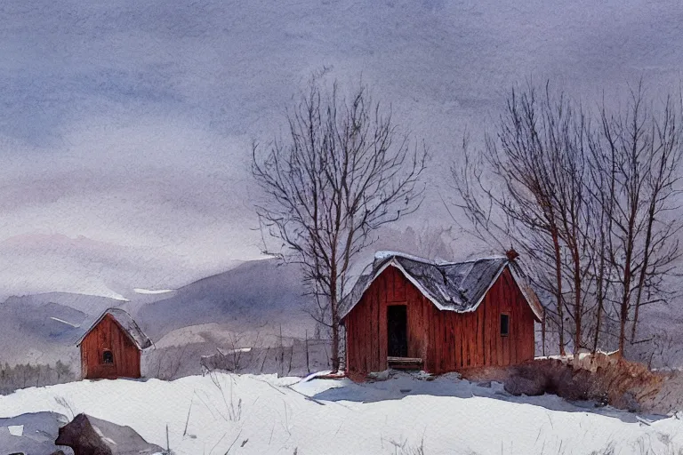
<path id="1" fill-rule="evenodd" d="M 78 339 L 83 379 L 140 378 L 142 350 L 152 346 L 133 317 L 109 308 Z"/>

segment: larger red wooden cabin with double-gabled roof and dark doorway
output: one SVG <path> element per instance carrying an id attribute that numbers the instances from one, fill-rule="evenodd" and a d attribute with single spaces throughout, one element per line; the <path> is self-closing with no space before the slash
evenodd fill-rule
<path id="1" fill-rule="evenodd" d="M 342 301 L 347 374 L 438 374 L 533 359 L 542 306 L 515 257 L 434 263 L 378 254 Z"/>

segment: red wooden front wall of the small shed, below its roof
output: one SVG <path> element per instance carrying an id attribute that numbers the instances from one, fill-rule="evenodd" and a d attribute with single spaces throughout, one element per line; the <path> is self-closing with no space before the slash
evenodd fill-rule
<path id="1" fill-rule="evenodd" d="M 102 363 L 109 350 L 114 363 Z M 141 352 L 110 315 L 104 318 L 81 342 L 81 375 L 84 379 L 140 378 Z"/>

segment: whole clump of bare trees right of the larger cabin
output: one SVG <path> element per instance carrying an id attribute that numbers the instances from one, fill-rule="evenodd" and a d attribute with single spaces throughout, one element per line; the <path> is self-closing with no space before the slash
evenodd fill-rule
<path id="1" fill-rule="evenodd" d="M 481 158 L 454 166 L 456 205 L 470 232 L 515 242 L 534 259 L 534 284 L 575 351 L 638 343 L 641 307 L 666 300 L 680 257 L 679 161 L 683 132 L 671 97 L 655 108 L 642 86 L 623 113 L 604 105 L 597 124 L 560 92 L 538 100 L 513 90 Z M 617 328 L 618 327 L 618 328 Z M 642 341 L 642 340 L 640 340 Z"/>

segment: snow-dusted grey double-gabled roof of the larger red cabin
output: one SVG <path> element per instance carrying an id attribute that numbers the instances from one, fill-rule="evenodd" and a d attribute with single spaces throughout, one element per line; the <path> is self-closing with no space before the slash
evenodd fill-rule
<path id="1" fill-rule="evenodd" d="M 486 292 L 507 267 L 536 319 L 542 320 L 541 303 L 514 260 L 494 257 L 463 262 L 436 262 L 396 251 L 380 251 L 375 254 L 372 271 L 359 276 L 353 289 L 342 299 L 342 319 L 358 304 L 370 284 L 387 267 L 398 268 L 438 309 L 456 313 L 475 311 Z"/>

